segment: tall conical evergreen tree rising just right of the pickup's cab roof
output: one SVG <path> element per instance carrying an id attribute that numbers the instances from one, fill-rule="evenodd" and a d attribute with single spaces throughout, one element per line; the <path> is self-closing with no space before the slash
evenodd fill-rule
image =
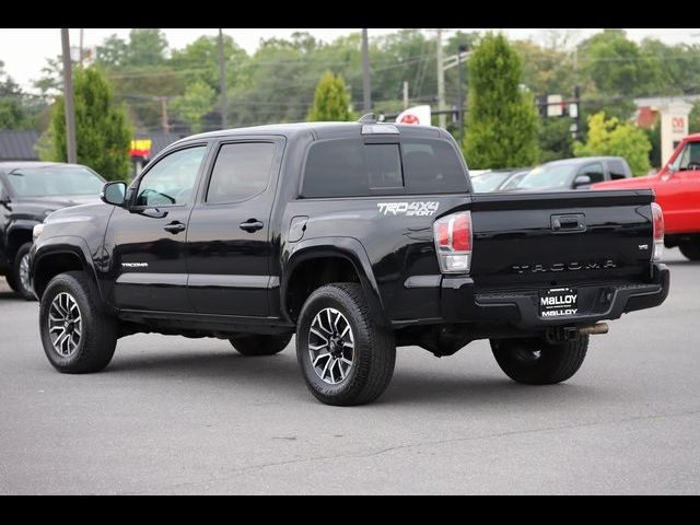
<path id="1" fill-rule="evenodd" d="M 465 155 L 474 168 L 537 162 L 538 116 L 521 90 L 521 58 L 503 35 L 488 34 L 469 58 L 470 91 Z"/>

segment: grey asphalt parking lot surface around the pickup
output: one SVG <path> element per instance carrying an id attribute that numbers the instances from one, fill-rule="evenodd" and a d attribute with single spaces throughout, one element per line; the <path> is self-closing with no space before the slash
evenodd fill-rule
<path id="1" fill-rule="evenodd" d="M 133 336 L 105 372 L 61 375 L 2 282 L 0 492 L 698 493 L 700 264 L 666 259 L 667 302 L 593 338 L 567 384 L 511 383 L 485 342 L 405 348 L 357 408 L 317 402 L 293 345 Z"/>

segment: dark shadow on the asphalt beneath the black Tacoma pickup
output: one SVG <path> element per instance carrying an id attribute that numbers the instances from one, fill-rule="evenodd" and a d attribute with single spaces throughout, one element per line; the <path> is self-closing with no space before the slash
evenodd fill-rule
<path id="1" fill-rule="evenodd" d="M 164 383 L 188 383 L 188 388 L 214 388 L 223 386 L 236 390 L 246 389 L 248 395 L 258 397 L 294 399 L 300 402 L 317 404 L 304 385 L 293 348 L 282 353 L 264 358 L 245 358 L 235 353 L 196 352 L 163 354 L 152 351 L 141 354 L 119 355 L 118 351 L 105 373 L 128 374 L 149 381 Z M 585 398 L 595 400 L 602 394 L 588 387 L 569 384 L 533 387 L 513 383 L 503 376 L 469 374 L 455 376 L 448 371 L 444 375 L 424 375 L 420 371 L 397 369 L 386 393 L 372 407 L 434 405 L 440 407 L 464 406 L 491 407 L 505 405 L 528 409 L 539 404 L 571 402 Z M 534 405 L 533 405 L 534 404 Z"/>

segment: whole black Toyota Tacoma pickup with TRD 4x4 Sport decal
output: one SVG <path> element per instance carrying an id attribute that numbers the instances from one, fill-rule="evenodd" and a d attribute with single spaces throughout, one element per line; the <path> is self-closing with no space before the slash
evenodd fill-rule
<path id="1" fill-rule="evenodd" d="M 306 384 L 331 405 L 377 398 L 401 346 L 442 357 L 490 339 L 511 378 L 552 384 L 599 322 L 668 293 L 651 191 L 474 195 L 438 128 L 199 135 L 102 198 L 52 213 L 32 250 L 61 372 L 104 369 L 135 332 L 218 337 L 244 355 L 296 334 Z"/>

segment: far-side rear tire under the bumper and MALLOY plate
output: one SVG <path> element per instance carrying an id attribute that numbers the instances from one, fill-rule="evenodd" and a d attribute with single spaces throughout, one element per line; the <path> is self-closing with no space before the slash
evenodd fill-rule
<path id="1" fill-rule="evenodd" d="M 541 339 L 492 339 L 495 361 L 511 380 L 526 385 L 553 385 L 576 373 L 586 357 L 588 336 L 560 345 Z"/>

